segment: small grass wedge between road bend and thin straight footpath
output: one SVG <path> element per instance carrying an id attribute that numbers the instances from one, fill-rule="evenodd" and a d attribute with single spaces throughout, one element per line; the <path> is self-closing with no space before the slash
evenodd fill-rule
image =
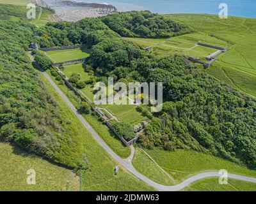
<path id="1" fill-rule="evenodd" d="M 172 177 L 164 173 L 157 164 L 155 164 L 140 148 L 136 148 L 132 165 L 148 179 L 154 180 L 159 184 L 172 186 L 174 184 Z"/>

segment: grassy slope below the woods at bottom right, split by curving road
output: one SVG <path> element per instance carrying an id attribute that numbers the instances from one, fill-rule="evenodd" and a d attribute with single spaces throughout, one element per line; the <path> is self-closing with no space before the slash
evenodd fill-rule
<path id="1" fill-rule="evenodd" d="M 228 173 L 256 177 L 255 170 L 249 170 L 244 166 L 207 154 L 184 150 L 168 153 L 159 149 L 146 150 L 146 152 L 160 166 L 154 163 L 140 148 L 136 148 L 132 160 L 134 168 L 159 184 L 167 186 L 177 185 L 196 173 L 219 171 L 221 169 L 228 170 Z M 228 185 L 220 185 L 218 177 L 216 177 L 199 180 L 182 191 L 256 191 L 255 187 L 256 184 L 252 182 L 234 179 L 228 179 Z"/>

